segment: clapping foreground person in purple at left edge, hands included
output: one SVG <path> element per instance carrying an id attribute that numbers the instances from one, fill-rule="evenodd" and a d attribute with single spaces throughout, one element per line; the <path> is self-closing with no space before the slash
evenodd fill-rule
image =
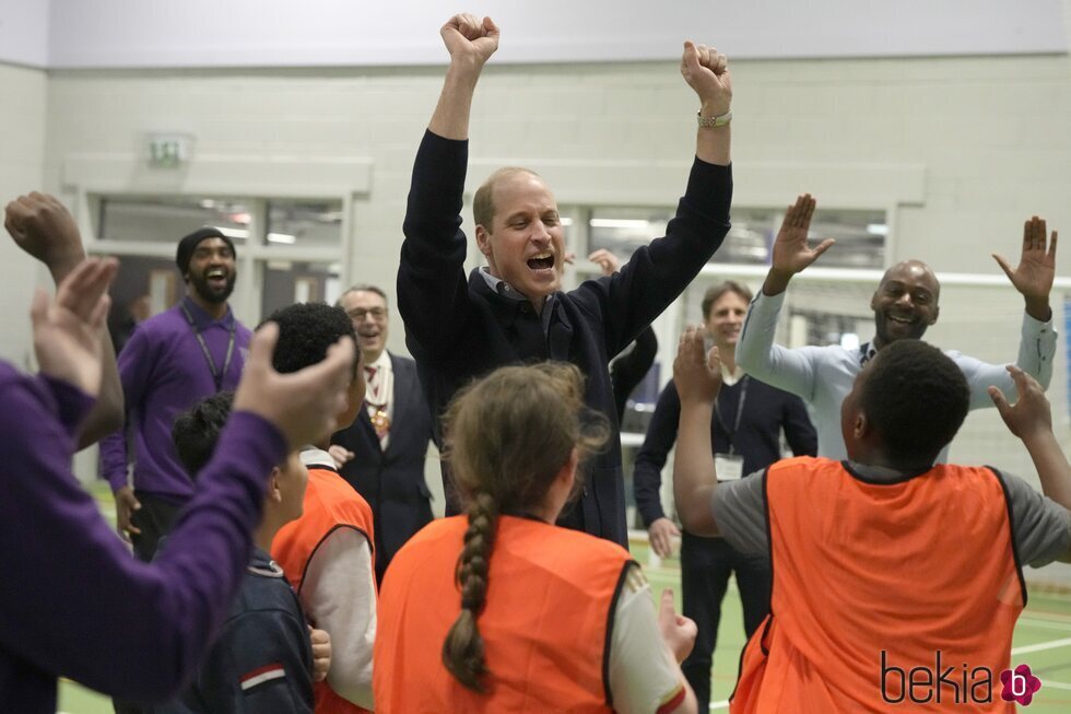
<path id="1" fill-rule="evenodd" d="M 278 328 L 269 325 L 255 337 L 220 448 L 166 551 L 152 564 L 141 563 L 71 475 L 73 441 L 60 425 L 79 396 L 85 400 L 80 390 L 92 394 L 99 384 L 98 328 L 107 309 L 99 280 L 110 280 L 108 270 L 114 274 L 114 261 L 85 261 L 62 281 L 55 303 L 39 295 L 34 305 L 43 374 L 79 390 L 72 386 L 64 398 L 49 399 L 26 378 L 0 384 L 0 463 L 9 465 L 0 471 L 0 536 L 26 546 L 0 553 L 0 570 L 22 584 L 3 599 L 8 617 L 0 619 L 0 645 L 94 689 L 156 700 L 192 672 L 229 608 L 271 466 L 287 449 L 334 428 L 330 415 L 345 403 L 354 347 L 350 340 L 319 365 L 279 375 L 271 368 Z M 68 288 L 81 299 L 70 302 Z M 42 443 L 51 447 L 42 449 Z M 47 537 L 26 541 L 30 531 Z M 130 602 L 139 604 L 141 617 L 129 617 Z M 42 611 L 49 617 L 38 617 Z M 153 646 L 144 647 L 149 642 Z"/>

